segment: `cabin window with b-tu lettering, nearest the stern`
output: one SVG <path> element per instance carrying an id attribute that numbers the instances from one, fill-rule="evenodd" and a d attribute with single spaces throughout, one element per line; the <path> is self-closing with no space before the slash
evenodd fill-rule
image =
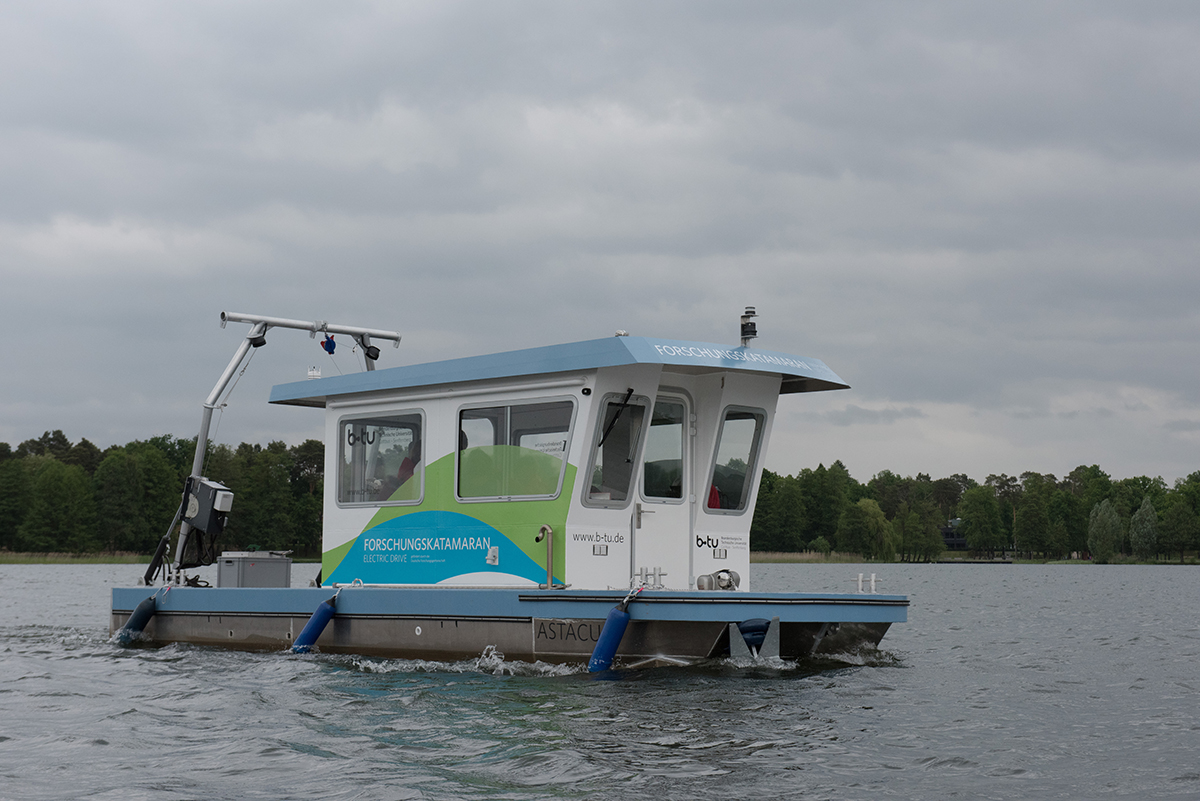
<path id="1" fill-rule="evenodd" d="M 419 504 L 425 478 L 422 420 L 420 411 L 341 420 L 337 502 Z"/>

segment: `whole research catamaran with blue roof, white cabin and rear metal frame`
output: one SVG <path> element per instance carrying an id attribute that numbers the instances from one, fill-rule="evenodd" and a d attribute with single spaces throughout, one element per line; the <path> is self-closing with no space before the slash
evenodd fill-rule
<path id="1" fill-rule="evenodd" d="M 823 362 L 617 336 L 376 369 L 391 331 L 248 314 L 204 404 L 178 547 L 113 590 L 122 642 L 380 657 L 690 664 L 875 648 L 904 596 L 756 592 L 750 523 L 781 395 L 848 389 Z M 233 493 L 200 475 L 211 412 L 271 327 L 343 333 L 367 371 L 274 387 L 324 409 L 323 556 L 218 553 Z M 187 571 L 218 564 L 218 586 Z M 162 584 L 155 586 L 158 573 Z M 872 577 L 874 578 L 874 577 Z"/>

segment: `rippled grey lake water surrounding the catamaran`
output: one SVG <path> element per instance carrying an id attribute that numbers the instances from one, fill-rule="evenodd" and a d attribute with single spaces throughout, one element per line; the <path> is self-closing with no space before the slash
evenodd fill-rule
<path id="1" fill-rule="evenodd" d="M 1200 797 L 1194 567 L 756 565 L 876 572 L 910 620 L 862 664 L 599 679 L 126 650 L 109 589 L 142 572 L 0 566 L 0 799 Z"/>

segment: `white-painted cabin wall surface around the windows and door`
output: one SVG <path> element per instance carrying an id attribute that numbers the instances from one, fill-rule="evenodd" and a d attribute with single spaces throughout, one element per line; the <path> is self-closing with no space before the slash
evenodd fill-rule
<path id="1" fill-rule="evenodd" d="M 754 517 L 755 500 L 761 481 L 762 457 L 774 423 L 779 396 L 778 375 L 756 373 L 710 373 L 704 375 L 664 373 L 660 365 L 631 365 L 600 368 L 595 373 L 580 373 L 566 386 L 522 386 L 520 381 L 497 381 L 469 392 L 445 390 L 431 391 L 425 387 L 419 393 L 390 392 L 386 397 L 349 399 L 348 404 L 326 410 L 325 418 L 325 487 L 323 550 L 330 552 L 358 537 L 368 525 L 377 507 L 340 507 L 337 505 L 338 420 L 349 415 L 370 415 L 401 409 L 420 409 L 425 415 L 426 464 L 452 454 L 457 450 L 457 414 L 464 405 L 478 403 L 504 403 L 511 401 L 572 397 L 576 403 L 575 423 L 568 450 L 568 462 L 575 466 L 574 486 L 570 493 L 566 524 L 554 532 L 554 548 L 562 548 L 563 579 L 577 589 L 628 588 L 634 572 L 632 526 L 635 504 L 641 499 L 642 444 L 636 454 L 637 474 L 629 500 L 618 508 L 584 506 L 583 496 L 589 486 L 588 462 L 592 456 L 598 417 L 604 409 L 606 396 L 624 396 L 632 387 L 635 397 L 646 398 L 650 405 L 660 386 L 684 390 L 692 402 L 695 435 L 690 439 L 691 477 L 688 487 L 688 504 L 691 514 L 691 531 L 679 526 L 679 536 L 688 538 L 688 564 L 664 565 L 668 571 L 667 584 L 674 589 L 695 588 L 695 577 L 721 568 L 733 570 L 742 578 L 740 589 L 750 589 L 749 531 Z M 584 395 L 583 390 L 590 390 Z M 746 508 L 737 514 L 713 514 L 706 512 L 708 489 L 715 456 L 716 433 L 725 409 L 730 405 L 762 409 L 767 417 L 758 450 Z M 648 424 L 647 418 L 647 424 Z M 427 492 L 426 487 L 426 492 Z M 464 504 L 463 512 L 469 512 Z M 700 544 L 697 544 L 697 542 Z M 714 546 L 713 543 L 719 543 Z M 594 552 L 595 544 L 607 546 L 607 553 Z M 726 550 L 726 559 L 713 556 L 713 547 Z M 556 560 L 557 561 L 557 560 Z"/>

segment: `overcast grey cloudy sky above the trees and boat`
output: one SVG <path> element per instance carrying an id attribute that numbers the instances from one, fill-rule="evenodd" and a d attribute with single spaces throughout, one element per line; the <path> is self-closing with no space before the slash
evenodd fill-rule
<path id="1" fill-rule="evenodd" d="M 635 335 L 823 360 L 768 466 L 1200 470 L 1194 2 L 6 2 L 0 441 L 192 436 L 246 326 L 380 366 Z M 320 436 L 272 384 L 222 442 Z"/>

